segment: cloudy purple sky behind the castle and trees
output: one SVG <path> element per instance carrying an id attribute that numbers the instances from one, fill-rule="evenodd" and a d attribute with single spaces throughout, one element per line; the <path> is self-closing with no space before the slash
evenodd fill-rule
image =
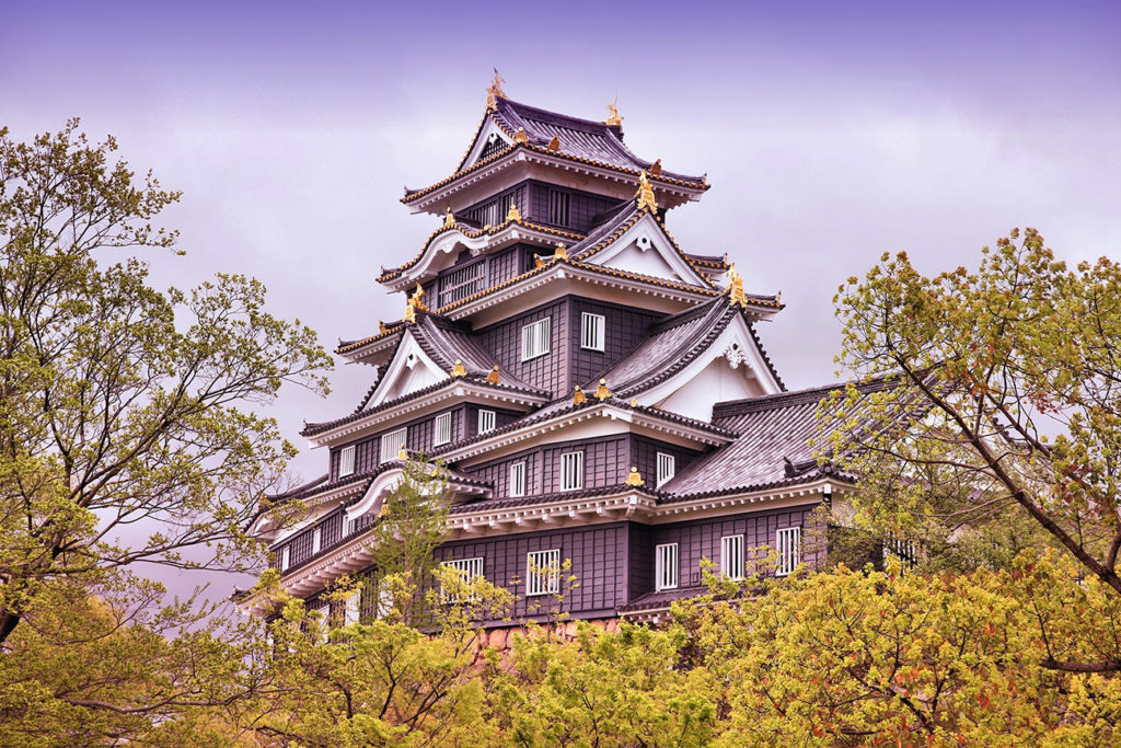
<path id="1" fill-rule="evenodd" d="M 4 0 L 0 124 L 115 135 L 185 192 L 166 221 L 188 253 L 155 258 L 159 284 L 257 276 L 333 348 L 400 317 L 373 279 L 438 225 L 401 186 L 452 172 L 492 65 L 577 117 L 618 95 L 636 153 L 708 174 L 668 215 L 682 246 L 782 292 L 760 335 L 799 388 L 833 380 L 833 292 L 884 250 L 933 274 L 1035 225 L 1067 259 L 1121 256 L 1118 39 L 1109 2 Z M 370 373 L 275 415 L 303 447 L 302 421 L 353 409 Z"/>

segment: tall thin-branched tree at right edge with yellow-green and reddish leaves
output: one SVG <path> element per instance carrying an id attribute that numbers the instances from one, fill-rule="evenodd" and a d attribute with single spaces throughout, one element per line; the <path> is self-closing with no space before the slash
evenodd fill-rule
<path id="1" fill-rule="evenodd" d="M 1051 544 L 1121 595 L 1121 268 L 1067 268 L 1027 229 L 974 273 L 927 278 L 884 255 L 835 303 L 839 361 L 890 382 L 824 405 L 843 413 L 828 452 L 860 475 L 859 518 L 943 547 L 972 538 L 983 564 Z"/>

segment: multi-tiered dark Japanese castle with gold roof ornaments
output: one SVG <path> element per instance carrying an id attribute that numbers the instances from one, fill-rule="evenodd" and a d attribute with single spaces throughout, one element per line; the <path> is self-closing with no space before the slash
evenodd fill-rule
<path id="1" fill-rule="evenodd" d="M 304 430 L 326 474 L 278 497 L 302 502 L 294 526 L 253 527 L 281 584 L 324 610 L 334 580 L 372 574 L 371 527 L 421 453 L 450 469 L 438 560 L 509 588 L 516 619 L 566 560 L 564 609 L 591 620 L 701 593 L 703 558 L 733 579 L 776 554 L 767 573 L 819 561 L 810 512 L 853 482 L 808 444 L 828 388 L 786 391 L 756 334 L 780 298 L 669 233 L 706 177 L 631 153 L 613 104 L 577 119 L 501 83 L 451 176 L 401 200 L 436 228 L 378 278 L 402 318 L 336 351 L 373 386 Z"/>

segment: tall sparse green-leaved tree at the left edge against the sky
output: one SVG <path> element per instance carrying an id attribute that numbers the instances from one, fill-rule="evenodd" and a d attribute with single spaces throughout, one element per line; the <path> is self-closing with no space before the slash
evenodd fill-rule
<path id="1" fill-rule="evenodd" d="M 175 247 L 152 221 L 179 193 L 77 126 L 0 130 L 0 645 L 108 569 L 256 563 L 247 519 L 294 449 L 245 406 L 325 390 L 331 364 L 256 280 L 151 288 L 121 255 Z M 146 539 L 117 539 L 138 525 Z"/>

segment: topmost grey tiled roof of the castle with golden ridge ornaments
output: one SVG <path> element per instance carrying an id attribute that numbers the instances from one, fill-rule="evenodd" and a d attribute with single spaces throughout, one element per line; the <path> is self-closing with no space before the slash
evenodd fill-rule
<path id="1" fill-rule="evenodd" d="M 492 96 L 455 172 L 427 187 L 406 188 L 401 202 L 415 212 L 460 212 L 525 178 L 627 198 L 642 172 L 665 209 L 700 200 L 708 188 L 705 175 L 669 172 L 660 159 L 649 161 L 631 153 L 623 145 L 621 124 Z"/>

